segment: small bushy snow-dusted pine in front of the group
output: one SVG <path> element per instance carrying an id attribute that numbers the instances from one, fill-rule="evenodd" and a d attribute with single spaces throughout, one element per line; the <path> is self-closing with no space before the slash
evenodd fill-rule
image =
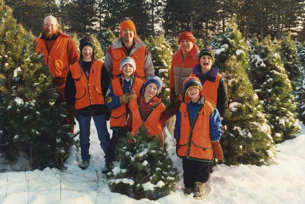
<path id="1" fill-rule="evenodd" d="M 155 139 L 155 140 L 154 140 Z M 171 191 L 178 182 L 174 167 L 160 139 L 149 137 L 147 129 L 139 128 L 118 143 L 116 161 L 107 174 L 111 190 L 130 197 L 158 199 Z"/>

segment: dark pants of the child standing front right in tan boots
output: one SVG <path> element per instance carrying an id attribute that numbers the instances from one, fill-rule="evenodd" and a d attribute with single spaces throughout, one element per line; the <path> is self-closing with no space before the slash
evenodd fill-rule
<path id="1" fill-rule="evenodd" d="M 194 188 L 195 182 L 206 183 L 210 162 L 182 159 L 183 182 L 186 188 Z"/>

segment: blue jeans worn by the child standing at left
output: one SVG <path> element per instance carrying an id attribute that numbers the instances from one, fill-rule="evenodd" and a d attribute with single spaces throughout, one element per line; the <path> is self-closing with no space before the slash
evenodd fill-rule
<path id="1" fill-rule="evenodd" d="M 77 118 L 79 124 L 79 143 L 80 143 L 80 152 L 81 152 L 81 159 L 90 160 L 89 155 L 89 147 L 90 147 L 90 121 L 91 117 L 93 117 L 94 124 L 96 125 L 98 131 L 98 137 L 100 140 L 101 148 L 105 153 L 105 162 L 110 162 L 110 157 L 108 155 L 108 147 L 110 145 L 110 135 L 107 129 L 106 124 L 106 117 L 104 114 L 102 115 L 95 115 L 95 116 L 80 116 Z"/>

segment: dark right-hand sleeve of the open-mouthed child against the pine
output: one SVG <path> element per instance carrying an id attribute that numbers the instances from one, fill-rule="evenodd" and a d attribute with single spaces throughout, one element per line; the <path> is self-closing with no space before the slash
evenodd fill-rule
<path id="1" fill-rule="evenodd" d="M 217 90 L 217 104 L 220 117 L 225 118 L 228 112 L 228 90 L 227 83 L 221 79 Z"/>

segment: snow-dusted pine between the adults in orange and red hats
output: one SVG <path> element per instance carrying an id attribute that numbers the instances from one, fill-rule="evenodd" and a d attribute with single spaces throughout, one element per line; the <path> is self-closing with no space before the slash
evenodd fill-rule
<path id="1" fill-rule="evenodd" d="M 167 42 L 164 35 L 160 35 L 156 38 L 150 36 L 145 41 L 149 49 L 151 58 L 153 59 L 155 67 L 155 75 L 160 77 L 163 81 L 162 87 L 162 102 L 168 106 L 169 102 L 169 72 L 171 65 L 172 49 L 170 44 Z"/>

